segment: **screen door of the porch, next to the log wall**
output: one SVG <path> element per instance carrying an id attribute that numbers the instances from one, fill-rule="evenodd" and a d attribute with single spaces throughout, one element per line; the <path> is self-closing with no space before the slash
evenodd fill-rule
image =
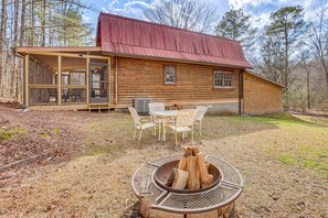
<path id="1" fill-rule="evenodd" d="M 89 103 L 108 103 L 108 64 L 89 63 Z"/>

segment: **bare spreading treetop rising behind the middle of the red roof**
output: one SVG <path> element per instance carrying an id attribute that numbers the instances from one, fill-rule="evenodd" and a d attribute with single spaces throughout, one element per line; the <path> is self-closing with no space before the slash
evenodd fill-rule
<path id="1" fill-rule="evenodd" d="M 156 23 L 198 32 L 212 32 L 218 20 L 215 7 L 201 0 L 159 0 L 146 7 L 144 14 Z"/>

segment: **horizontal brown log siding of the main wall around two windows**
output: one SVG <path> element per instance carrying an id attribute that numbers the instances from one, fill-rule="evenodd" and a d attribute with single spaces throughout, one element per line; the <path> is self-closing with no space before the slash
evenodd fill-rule
<path id="1" fill-rule="evenodd" d="M 177 66 L 177 84 L 163 84 L 163 66 Z M 114 67 L 114 65 L 113 65 Z M 213 66 L 167 63 L 118 57 L 118 102 L 131 103 L 133 98 L 149 97 L 159 101 L 237 99 L 239 77 L 233 70 L 234 88 L 213 89 Z"/>

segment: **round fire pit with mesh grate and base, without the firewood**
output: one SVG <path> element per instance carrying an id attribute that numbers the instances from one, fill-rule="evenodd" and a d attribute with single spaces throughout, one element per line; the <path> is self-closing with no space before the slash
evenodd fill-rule
<path id="1" fill-rule="evenodd" d="M 234 200 L 243 190 L 243 179 L 231 164 L 208 155 L 214 183 L 197 190 L 178 190 L 163 183 L 168 172 L 181 155 L 168 156 L 149 162 L 138 168 L 131 179 L 133 190 L 140 199 L 144 217 L 216 218 L 229 217 Z"/>

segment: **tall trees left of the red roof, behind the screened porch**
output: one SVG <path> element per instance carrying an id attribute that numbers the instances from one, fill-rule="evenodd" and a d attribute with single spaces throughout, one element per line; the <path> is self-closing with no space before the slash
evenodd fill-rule
<path id="1" fill-rule="evenodd" d="M 0 97 L 22 101 L 23 62 L 17 46 L 93 45 L 95 32 L 83 22 L 80 0 L 1 0 Z"/>

